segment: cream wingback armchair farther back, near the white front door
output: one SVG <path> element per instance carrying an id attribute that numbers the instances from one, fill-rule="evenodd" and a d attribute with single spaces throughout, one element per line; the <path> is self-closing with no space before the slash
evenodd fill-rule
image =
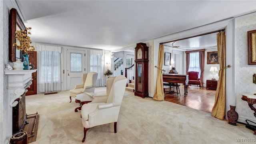
<path id="1" fill-rule="evenodd" d="M 83 92 L 94 92 L 96 82 L 97 82 L 98 73 L 97 72 L 88 72 L 82 74 L 82 84 L 78 84 L 74 89 L 69 90 L 69 98 L 71 102 L 71 97 L 76 97 L 77 94 Z"/>

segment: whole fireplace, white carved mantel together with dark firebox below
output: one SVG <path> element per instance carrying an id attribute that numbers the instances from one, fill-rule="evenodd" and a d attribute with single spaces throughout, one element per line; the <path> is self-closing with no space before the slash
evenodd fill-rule
<path id="1" fill-rule="evenodd" d="M 7 75 L 7 94 L 12 107 L 12 134 L 22 131 L 26 123 L 25 94 L 32 84 L 33 72 L 36 70 L 4 70 Z"/>

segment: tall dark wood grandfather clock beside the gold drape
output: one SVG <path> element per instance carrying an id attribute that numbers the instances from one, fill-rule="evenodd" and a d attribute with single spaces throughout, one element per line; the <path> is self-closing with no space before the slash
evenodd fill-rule
<path id="1" fill-rule="evenodd" d="M 148 46 L 138 43 L 135 48 L 135 96 L 148 96 Z"/>

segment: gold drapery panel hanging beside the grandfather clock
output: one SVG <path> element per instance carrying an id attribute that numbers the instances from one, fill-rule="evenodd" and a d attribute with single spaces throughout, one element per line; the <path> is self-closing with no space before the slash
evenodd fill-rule
<path id="1" fill-rule="evenodd" d="M 158 52 L 156 88 L 153 96 L 153 100 L 158 100 L 158 101 L 164 100 L 164 86 L 163 86 L 163 74 L 162 74 L 163 60 L 164 60 L 164 45 L 160 44 L 159 52 Z"/>

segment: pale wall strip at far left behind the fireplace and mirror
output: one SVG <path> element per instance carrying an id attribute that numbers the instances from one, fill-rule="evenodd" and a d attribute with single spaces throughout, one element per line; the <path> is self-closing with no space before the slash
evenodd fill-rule
<path id="1" fill-rule="evenodd" d="M 9 13 L 11 8 L 16 8 L 13 1 L 0 0 L 0 144 L 8 144 L 12 136 L 12 107 L 6 90 L 7 76 L 3 71 L 4 64 L 9 63 Z"/>

